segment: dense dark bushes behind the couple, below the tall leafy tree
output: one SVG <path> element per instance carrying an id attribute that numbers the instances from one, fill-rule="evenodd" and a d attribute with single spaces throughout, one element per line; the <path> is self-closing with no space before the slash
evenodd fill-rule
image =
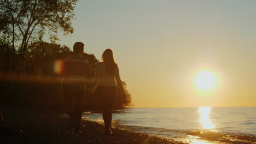
<path id="1" fill-rule="evenodd" d="M 61 61 L 71 50 L 60 44 L 38 41 L 29 46 L 25 61 L 20 58 L 11 59 L 10 46 L 1 46 L 1 104 L 24 106 L 39 106 L 45 108 L 63 108 L 61 94 Z M 18 56 L 17 56 L 18 57 Z M 95 66 L 98 59 L 93 54 L 84 53 L 95 76 Z M 126 83 L 124 83 L 126 89 Z M 127 92 L 126 101 L 121 100 L 121 93 L 115 100 L 113 109 L 124 109 L 131 104 L 131 94 Z M 97 95 L 87 95 L 90 101 L 85 101 L 86 110 L 97 110 L 99 107 Z M 87 99 L 87 98 L 86 98 Z"/>

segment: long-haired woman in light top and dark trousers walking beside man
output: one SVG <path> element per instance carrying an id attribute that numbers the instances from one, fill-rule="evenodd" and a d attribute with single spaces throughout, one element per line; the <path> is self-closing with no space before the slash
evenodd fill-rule
<path id="1" fill-rule="evenodd" d="M 102 116 L 106 128 L 105 134 L 111 135 L 112 106 L 117 95 L 117 86 L 123 94 L 123 100 L 125 100 L 126 94 L 112 50 L 105 50 L 101 59 L 103 62 L 96 64 L 95 84 L 97 85 L 97 95 L 100 97 L 102 106 Z"/>

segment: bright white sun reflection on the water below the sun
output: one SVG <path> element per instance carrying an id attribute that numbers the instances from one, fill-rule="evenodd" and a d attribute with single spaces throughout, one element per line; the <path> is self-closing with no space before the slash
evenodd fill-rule
<path id="1" fill-rule="evenodd" d="M 200 113 L 199 121 L 202 123 L 203 129 L 214 129 L 214 125 L 210 121 L 211 107 L 199 107 L 197 112 Z"/>

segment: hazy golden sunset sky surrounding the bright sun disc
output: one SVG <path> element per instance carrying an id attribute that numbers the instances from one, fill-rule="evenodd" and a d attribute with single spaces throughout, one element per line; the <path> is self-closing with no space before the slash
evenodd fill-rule
<path id="1" fill-rule="evenodd" d="M 256 1 L 79 1 L 74 33 L 100 59 L 112 49 L 134 107 L 256 106 Z M 200 71 L 215 85 L 202 91 Z"/>

